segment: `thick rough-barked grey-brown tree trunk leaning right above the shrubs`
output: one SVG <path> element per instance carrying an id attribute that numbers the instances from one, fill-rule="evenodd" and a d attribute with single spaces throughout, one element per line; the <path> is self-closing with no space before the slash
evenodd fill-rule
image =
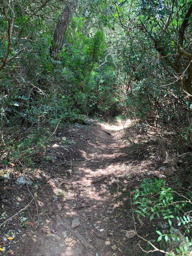
<path id="1" fill-rule="evenodd" d="M 63 12 L 59 18 L 50 47 L 50 56 L 54 60 L 58 59 L 58 54 L 63 45 L 63 37 L 65 35 L 65 31 L 69 25 L 70 18 L 76 9 L 77 3 L 78 0 L 69 0 L 66 4 L 67 6 L 63 9 Z"/>

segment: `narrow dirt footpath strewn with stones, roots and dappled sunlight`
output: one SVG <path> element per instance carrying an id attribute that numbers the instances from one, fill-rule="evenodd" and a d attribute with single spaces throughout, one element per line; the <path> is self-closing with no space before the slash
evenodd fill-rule
<path id="1" fill-rule="evenodd" d="M 118 140 L 122 129 L 121 124 L 97 123 L 57 130 L 46 151 L 52 161 L 38 160 L 44 171 L 33 191 L 37 207 L 35 202 L 28 207 L 30 220 L 14 255 L 137 255 L 137 237 L 127 239 L 125 233 L 134 229 L 130 177 L 137 183 L 143 170 L 135 173 L 132 161 L 127 161 L 125 145 Z M 72 143 L 63 146 L 62 140 Z"/>

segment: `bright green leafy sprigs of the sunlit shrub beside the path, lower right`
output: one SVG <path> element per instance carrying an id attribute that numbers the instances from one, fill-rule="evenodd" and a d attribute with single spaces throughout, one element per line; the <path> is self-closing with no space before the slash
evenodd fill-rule
<path id="1" fill-rule="evenodd" d="M 176 190 L 166 185 L 166 181 L 163 179 L 154 180 L 148 179 L 142 180 L 141 185 L 138 189 L 134 190 L 133 205 L 136 206 L 135 212 L 137 213 L 137 218 L 140 216 L 150 218 L 152 221 L 154 218 L 166 220 L 169 227 L 172 227 L 172 223 L 177 221 L 178 226 L 182 226 L 184 229 L 184 234 L 189 234 L 191 232 L 192 221 L 186 212 L 186 209 L 191 209 L 191 198 L 192 193 L 189 193 L 188 197 L 180 195 Z M 178 237 L 175 237 L 172 229 L 170 229 L 170 234 L 162 234 L 159 230 L 156 230 L 159 235 L 157 242 L 161 239 L 165 239 L 167 242 L 168 236 L 171 236 L 173 241 Z M 187 245 L 185 248 L 177 248 L 176 251 L 180 254 L 181 252 L 186 252 L 187 246 L 192 245 L 192 240 L 189 241 L 186 236 Z M 179 242 L 179 241 L 178 241 Z"/>

